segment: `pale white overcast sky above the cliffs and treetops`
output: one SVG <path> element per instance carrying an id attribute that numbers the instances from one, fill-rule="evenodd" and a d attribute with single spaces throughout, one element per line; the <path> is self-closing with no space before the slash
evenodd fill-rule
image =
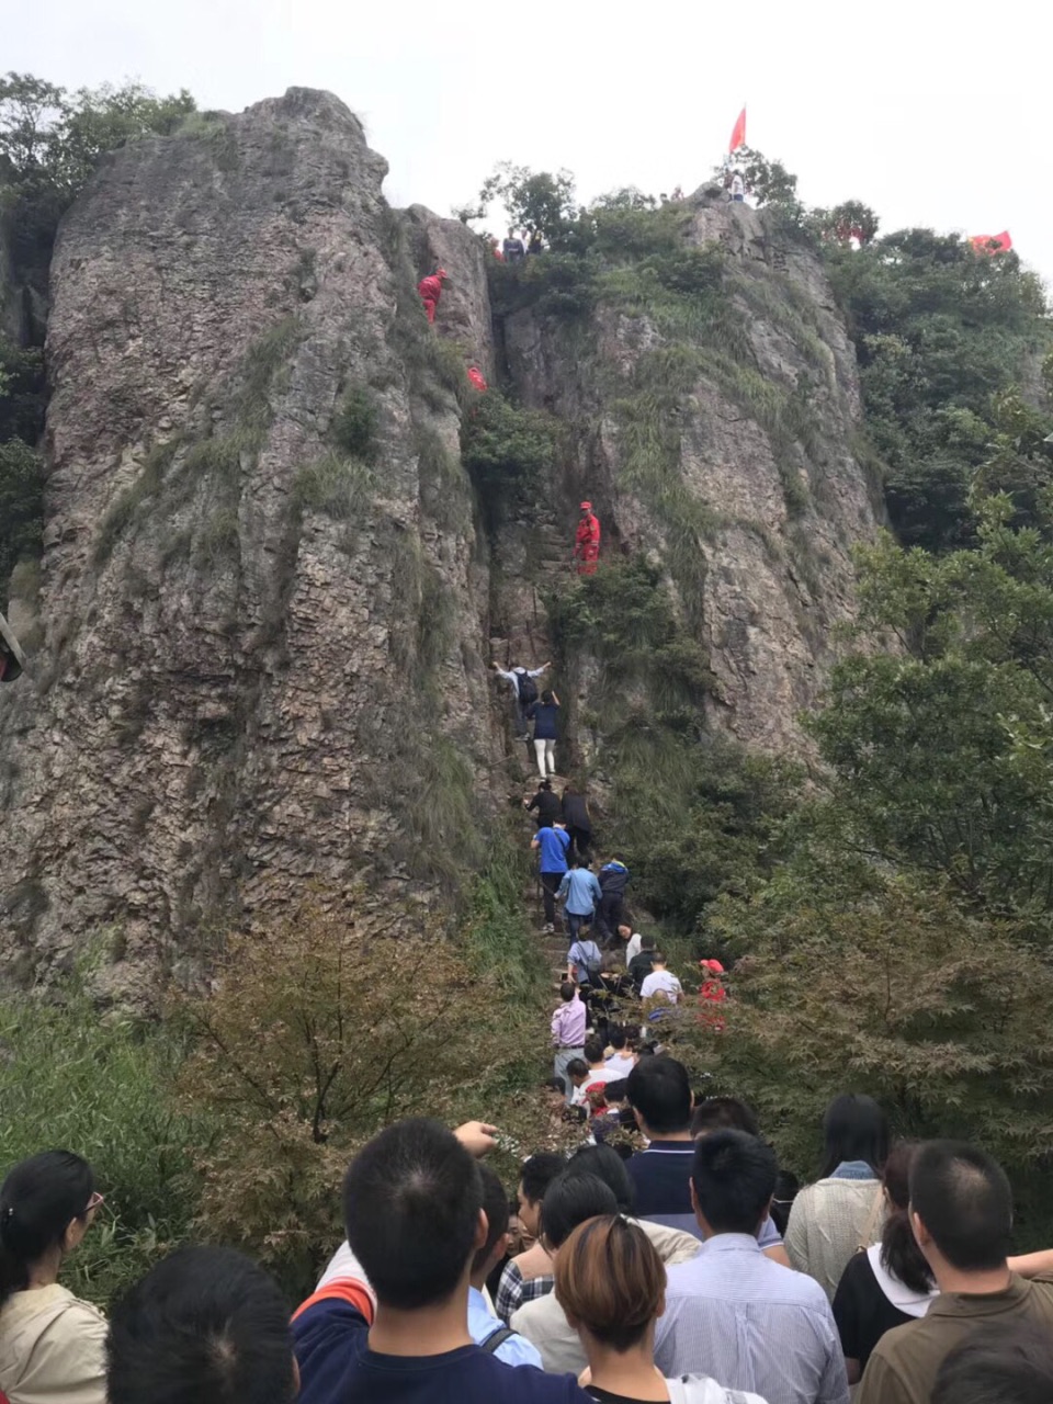
<path id="1" fill-rule="evenodd" d="M 501 159 L 591 198 L 699 184 L 748 140 L 809 204 L 882 229 L 1008 229 L 1053 282 L 1053 6 L 977 0 L 4 0 L 0 62 L 69 87 L 139 77 L 239 111 L 337 93 L 388 157 L 393 204 L 439 213 Z M 1040 18 L 1039 18 L 1040 17 Z"/>

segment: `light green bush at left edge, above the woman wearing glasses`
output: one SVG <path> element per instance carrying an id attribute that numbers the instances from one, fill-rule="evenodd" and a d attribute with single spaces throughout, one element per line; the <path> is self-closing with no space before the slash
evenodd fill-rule
<path id="1" fill-rule="evenodd" d="M 184 1046 L 164 1025 L 101 1014 L 80 977 L 0 1000 L 0 1165 L 63 1148 L 90 1161 L 105 1195 L 63 1280 L 100 1306 L 187 1236 L 204 1120 L 173 1091 Z"/>

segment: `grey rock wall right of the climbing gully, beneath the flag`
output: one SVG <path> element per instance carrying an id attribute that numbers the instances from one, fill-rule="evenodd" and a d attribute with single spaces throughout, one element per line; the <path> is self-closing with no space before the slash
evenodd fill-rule
<path id="1" fill-rule="evenodd" d="M 765 212 L 703 192 L 689 209 L 689 241 L 726 256 L 716 316 L 612 296 L 569 329 L 526 309 L 507 319 L 504 350 L 526 403 L 574 425 L 539 494 L 563 539 L 590 497 L 605 557 L 646 552 L 678 594 L 715 675 L 710 723 L 793 751 L 854 614 L 851 546 L 882 518 L 854 452 L 855 354 L 821 265 Z M 538 556 L 522 524 L 507 536 L 505 556 Z M 535 607 L 519 576 L 507 592 L 498 615 Z M 583 706 L 592 685 L 585 667 Z"/>

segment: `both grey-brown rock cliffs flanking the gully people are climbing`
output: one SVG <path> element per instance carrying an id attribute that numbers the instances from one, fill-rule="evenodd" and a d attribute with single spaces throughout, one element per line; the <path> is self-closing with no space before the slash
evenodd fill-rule
<path id="1" fill-rule="evenodd" d="M 733 369 L 602 299 L 571 331 L 515 313 L 498 357 L 483 244 L 395 215 L 385 170 L 343 104 L 293 88 L 126 147 L 65 222 L 45 642 L 35 687 L 0 688 L 8 976 L 98 929 L 114 987 L 192 973 L 310 879 L 452 896 L 511 774 L 487 656 L 543 660 L 585 491 L 605 550 L 657 562 L 706 644 L 712 723 L 796 741 L 875 522 L 819 265 L 699 197 Z M 414 282 L 438 263 L 431 331 Z M 469 364 L 567 425 L 491 535 L 459 459 Z"/>

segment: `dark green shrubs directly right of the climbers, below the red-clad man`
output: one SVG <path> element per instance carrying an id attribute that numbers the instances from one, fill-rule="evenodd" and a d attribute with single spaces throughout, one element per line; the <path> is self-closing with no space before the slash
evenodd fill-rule
<path id="1" fill-rule="evenodd" d="M 776 861 L 796 774 L 708 734 L 716 680 L 656 566 L 605 563 L 546 607 L 560 670 L 600 667 L 598 701 L 571 706 L 605 788 L 604 847 L 632 868 L 635 900 L 703 938 L 709 904 L 753 890 Z"/>

